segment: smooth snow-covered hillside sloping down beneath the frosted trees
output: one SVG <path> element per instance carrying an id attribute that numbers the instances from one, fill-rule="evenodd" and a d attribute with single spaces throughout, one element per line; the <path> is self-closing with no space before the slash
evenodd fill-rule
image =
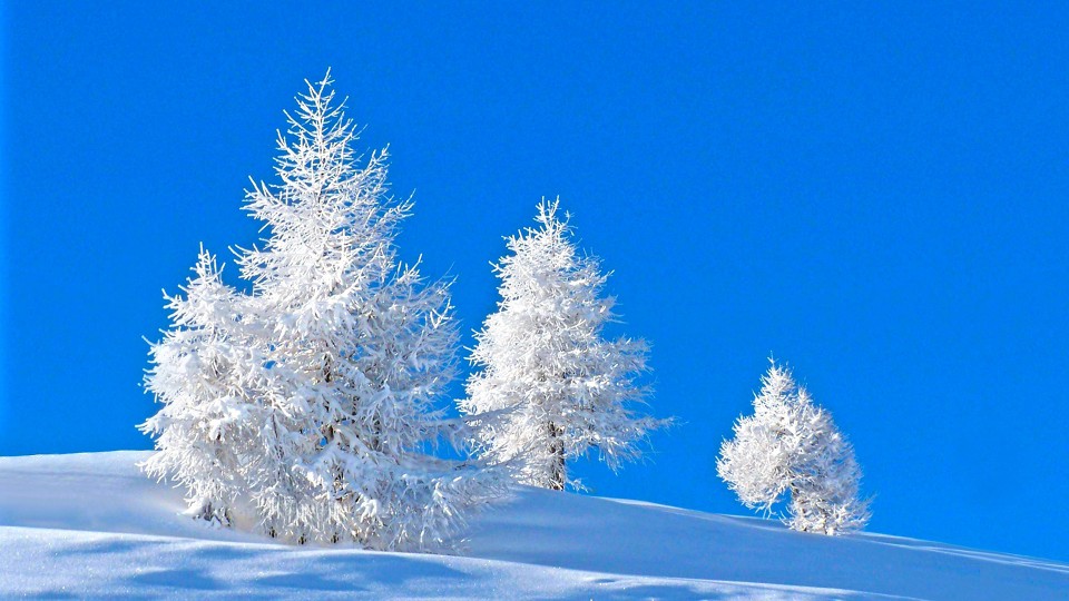
<path id="1" fill-rule="evenodd" d="M 522 490 L 462 556 L 286 546 L 177 513 L 141 452 L 0 457 L 0 598 L 1069 599 L 1069 564 Z"/>

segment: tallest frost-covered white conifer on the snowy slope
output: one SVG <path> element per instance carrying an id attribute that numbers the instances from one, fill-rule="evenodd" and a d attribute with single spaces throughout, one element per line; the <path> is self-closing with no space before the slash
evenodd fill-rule
<path id="1" fill-rule="evenodd" d="M 295 542 L 440 549 L 471 508 L 499 494 L 500 481 L 477 462 L 431 454 L 464 432 L 440 406 L 455 366 L 449 286 L 398 260 L 394 238 L 411 203 L 389 196 L 385 151 L 354 156 L 352 122 L 330 83 L 328 75 L 308 83 L 287 114 L 281 181 L 247 196 L 246 209 L 271 235 L 238 258 L 252 294 L 232 292 L 225 305 L 220 327 L 246 345 L 252 366 L 219 376 L 242 382 L 246 405 L 228 414 L 216 441 L 234 451 L 218 461 L 241 494 L 212 497 L 212 511 L 231 503 L 263 532 Z M 154 359 L 148 385 L 166 405 L 161 414 L 219 401 L 206 390 L 185 403 L 193 408 L 179 408 L 170 391 L 200 374 L 179 371 L 178 382 L 160 387 L 158 374 L 185 356 Z M 151 473 L 182 473 L 186 459 L 168 444 L 166 423 L 149 424 L 158 455 L 168 457 L 154 460 Z"/>

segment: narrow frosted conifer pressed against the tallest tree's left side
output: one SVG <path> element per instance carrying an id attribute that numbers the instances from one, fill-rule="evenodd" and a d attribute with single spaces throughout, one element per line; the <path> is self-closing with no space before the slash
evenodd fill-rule
<path id="1" fill-rule="evenodd" d="M 165 406 L 139 426 L 161 451 L 144 469 L 185 486 L 187 513 L 228 525 L 249 440 L 249 432 L 237 432 L 249 425 L 238 417 L 254 404 L 261 370 L 234 327 L 238 297 L 223 284 L 215 257 L 202 248 L 194 272 L 185 297 L 164 294 L 174 327 L 150 349 L 146 385 Z"/>

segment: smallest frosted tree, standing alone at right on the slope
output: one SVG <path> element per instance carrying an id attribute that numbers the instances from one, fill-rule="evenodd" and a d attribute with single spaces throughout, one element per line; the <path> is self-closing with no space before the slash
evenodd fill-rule
<path id="1" fill-rule="evenodd" d="M 734 430 L 716 467 L 744 505 L 769 514 L 790 491 L 784 521 L 794 530 L 843 534 L 867 523 L 853 446 L 787 368 L 772 363 L 754 414 L 739 417 Z"/>

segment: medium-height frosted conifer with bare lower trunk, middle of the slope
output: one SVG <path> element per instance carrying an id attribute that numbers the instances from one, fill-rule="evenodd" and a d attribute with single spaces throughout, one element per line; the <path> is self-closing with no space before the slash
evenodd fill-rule
<path id="1" fill-rule="evenodd" d="M 568 460 L 597 450 L 614 471 L 641 455 L 649 431 L 667 424 L 636 413 L 646 388 L 641 339 L 606 339 L 614 299 L 606 277 L 580 256 L 559 200 L 538 205 L 538 228 L 508 240 L 494 266 L 498 312 L 475 334 L 461 411 L 477 426 L 483 456 L 510 465 L 523 484 L 563 490 Z"/>

